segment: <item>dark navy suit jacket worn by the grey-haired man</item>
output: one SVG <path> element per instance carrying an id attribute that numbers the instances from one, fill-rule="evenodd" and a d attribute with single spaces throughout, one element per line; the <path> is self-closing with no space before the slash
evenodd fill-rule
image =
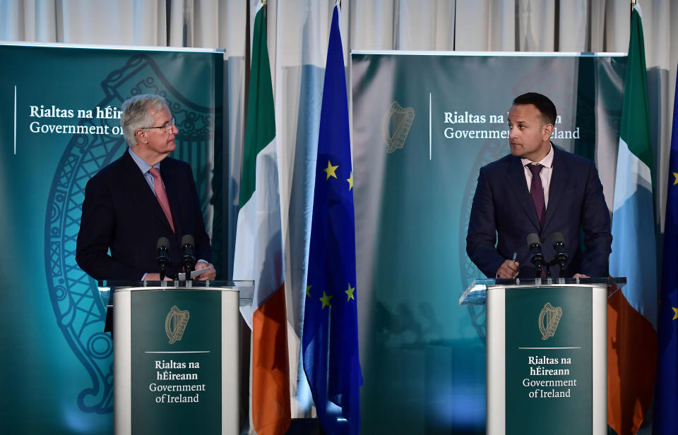
<path id="1" fill-rule="evenodd" d="M 160 176 L 176 233 L 172 233 L 129 149 L 88 181 L 76 247 L 76 262 L 88 275 L 141 281 L 143 274 L 160 271 L 156 245 L 159 238 L 166 237 L 170 260 L 167 276 L 172 278 L 181 269 L 181 239 L 186 234 L 195 238 L 196 259 L 211 261 L 210 239 L 191 167 L 166 157 L 160 164 Z"/>

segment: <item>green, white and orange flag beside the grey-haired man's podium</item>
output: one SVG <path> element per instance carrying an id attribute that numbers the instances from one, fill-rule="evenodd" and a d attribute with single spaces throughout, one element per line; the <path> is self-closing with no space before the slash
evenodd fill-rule
<path id="1" fill-rule="evenodd" d="M 275 110 L 266 44 L 266 11 L 254 18 L 249 105 L 233 278 L 254 279 L 254 300 L 240 312 L 252 329 L 251 418 L 258 435 L 290 427 L 290 370 Z"/>

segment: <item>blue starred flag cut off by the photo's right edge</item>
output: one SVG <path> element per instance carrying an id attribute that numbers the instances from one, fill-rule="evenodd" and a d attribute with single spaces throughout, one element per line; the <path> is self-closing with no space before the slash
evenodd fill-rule
<path id="1" fill-rule="evenodd" d="M 676 81 L 678 85 L 678 78 Z M 654 434 L 675 434 L 678 430 L 678 87 L 673 105 L 671 136 L 658 314 Z"/>

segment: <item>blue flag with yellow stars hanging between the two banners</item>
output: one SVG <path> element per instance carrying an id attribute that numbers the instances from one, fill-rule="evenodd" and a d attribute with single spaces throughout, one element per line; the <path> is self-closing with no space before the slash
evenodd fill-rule
<path id="1" fill-rule="evenodd" d="M 360 430 L 351 167 L 346 76 L 335 6 L 320 116 L 303 334 L 304 372 L 323 429 L 330 435 Z"/>

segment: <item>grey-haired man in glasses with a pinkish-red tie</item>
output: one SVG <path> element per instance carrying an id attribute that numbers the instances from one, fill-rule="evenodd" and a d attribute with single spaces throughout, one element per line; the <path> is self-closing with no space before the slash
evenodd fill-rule
<path id="1" fill-rule="evenodd" d="M 156 245 L 169 240 L 167 276 L 181 269 L 182 236 L 194 236 L 196 279 L 214 279 L 210 238 L 193 173 L 188 164 L 167 157 L 179 130 L 159 95 L 124 102 L 121 126 L 129 148 L 87 183 L 76 246 L 76 261 L 95 279 L 157 281 Z M 110 254 L 109 254 L 110 250 Z"/>

